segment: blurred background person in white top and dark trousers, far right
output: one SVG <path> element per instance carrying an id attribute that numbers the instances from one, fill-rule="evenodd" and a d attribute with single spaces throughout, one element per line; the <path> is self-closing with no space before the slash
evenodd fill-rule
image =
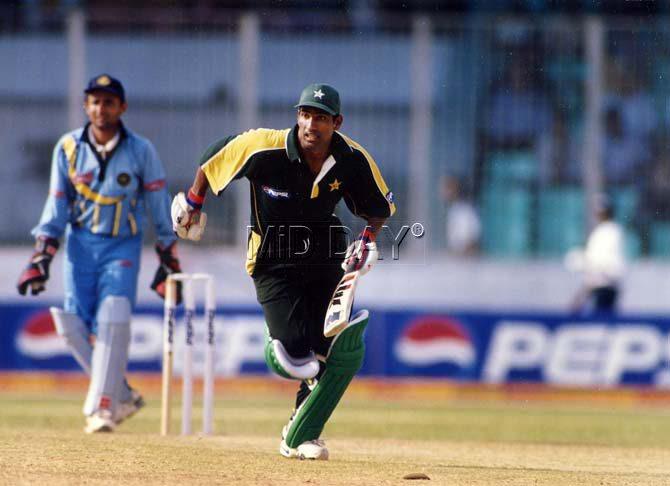
<path id="1" fill-rule="evenodd" d="M 586 248 L 572 250 L 565 257 L 568 269 L 583 273 L 584 278 L 571 309 L 579 314 L 612 315 L 619 299 L 626 257 L 624 230 L 614 221 L 612 201 L 605 195 L 598 197 L 596 221 Z"/>

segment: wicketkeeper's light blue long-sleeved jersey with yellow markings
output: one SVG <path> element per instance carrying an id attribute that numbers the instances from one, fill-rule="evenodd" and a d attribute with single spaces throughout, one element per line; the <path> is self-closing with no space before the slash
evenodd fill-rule
<path id="1" fill-rule="evenodd" d="M 60 238 L 69 223 L 94 235 L 141 235 L 145 206 L 159 243 L 175 241 L 165 169 L 151 142 L 122 125 L 117 146 L 103 160 L 86 125 L 65 134 L 54 148 L 49 195 L 32 234 Z"/>

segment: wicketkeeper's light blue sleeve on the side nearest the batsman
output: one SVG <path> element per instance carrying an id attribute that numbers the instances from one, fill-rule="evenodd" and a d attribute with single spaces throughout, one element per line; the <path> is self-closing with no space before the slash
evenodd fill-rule
<path id="1" fill-rule="evenodd" d="M 147 207 L 151 212 L 151 220 L 156 229 L 158 242 L 167 246 L 172 244 L 177 237 L 172 231 L 170 195 L 167 191 L 165 168 L 158 157 L 158 152 L 150 142 L 147 142 L 144 159 L 142 179 Z"/>

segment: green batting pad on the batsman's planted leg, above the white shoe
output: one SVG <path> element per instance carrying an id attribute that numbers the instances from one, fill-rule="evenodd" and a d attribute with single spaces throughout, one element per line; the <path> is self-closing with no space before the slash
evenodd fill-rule
<path id="1" fill-rule="evenodd" d="M 363 364 L 363 332 L 367 325 L 366 317 L 344 329 L 333 342 L 326 360 L 326 371 L 291 422 L 285 439 L 289 447 L 296 448 L 321 435 L 330 415 Z"/>

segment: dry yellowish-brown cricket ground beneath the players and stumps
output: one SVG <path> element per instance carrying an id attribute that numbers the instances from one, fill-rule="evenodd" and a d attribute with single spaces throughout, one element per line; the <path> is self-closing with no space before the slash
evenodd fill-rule
<path id="1" fill-rule="evenodd" d="M 456 388 L 412 400 L 379 384 L 365 392 L 359 385 L 324 432 L 330 461 L 309 462 L 278 453 L 292 397 L 284 382 L 272 383 L 217 386 L 212 437 L 160 437 L 156 387 L 146 388 L 147 408 L 116 432 L 88 436 L 80 385 L 5 386 L 0 484 L 670 484 L 664 401 L 491 398 L 473 388 L 463 397 Z M 196 420 L 199 413 L 196 406 Z M 176 431 L 176 406 L 173 415 Z M 409 473 L 430 482 L 404 480 Z"/>

